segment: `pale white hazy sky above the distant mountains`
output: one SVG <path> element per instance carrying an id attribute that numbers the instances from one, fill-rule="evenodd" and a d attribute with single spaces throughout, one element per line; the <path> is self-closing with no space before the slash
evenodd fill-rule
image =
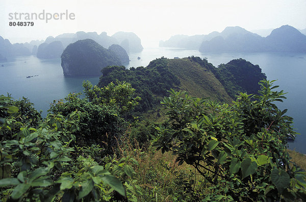
<path id="1" fill-rule="evenodd" d="M 74 13 L 74 20 L 28 20 L 33 27 L 10 27 L 9 13 Z M 24 21 L 24 20 L 22 20 Z M 289 24 L 306 28 L 306 0 L 0 0 L 0 36 L 12 43 L 62 33 L 134 32 L 144 46 L 175 34 L 209 34 L 227 26 L 246 30 Z"/>

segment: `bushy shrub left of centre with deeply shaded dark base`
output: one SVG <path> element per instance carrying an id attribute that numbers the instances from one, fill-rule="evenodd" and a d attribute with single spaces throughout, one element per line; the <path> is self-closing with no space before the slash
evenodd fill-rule
<path id="1" fill-rule="evenodd" d="M 80 112 L 79 131 L 74 132 L 79 146 L 100 145 L 105 154 L 113 154 L 126 130 L 126 116 L 138 104 L 135 89 L 125 82 L 110 83 L 99 88 L 83 83 L 86 98 L 81 93 L 69 94 L 64 100 L 54 102 L 49 112 L 65 117 Z"/>

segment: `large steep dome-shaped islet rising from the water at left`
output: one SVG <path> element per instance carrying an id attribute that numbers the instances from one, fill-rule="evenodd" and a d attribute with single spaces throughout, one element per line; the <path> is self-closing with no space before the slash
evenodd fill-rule
<path id="1" fill-rule="evenodd" d="M 69 44 L 62 56 L 62 68 L 67 76 L 101 75 L 101 69 L 112 65 L 122 65 L 118 56 L 92 39 L 79 40 Z"/>

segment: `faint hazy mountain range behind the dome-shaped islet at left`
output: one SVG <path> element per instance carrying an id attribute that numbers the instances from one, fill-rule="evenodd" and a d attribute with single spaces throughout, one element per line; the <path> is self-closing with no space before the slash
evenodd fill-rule
<path id="1" fill-rule="evenodd" d="M 70 43 L 78 40 L 92 39 L 105 48 L 112 44 L 122 46 L 127 53 L 139 53 L 143 47 L 140 38 L 132 32 L 117 32 L 108 36 L 106 32 L 97 34 L 96 32 L 64 33 L 59 36 L 49 36 L 45 41 L 36 40 L 30 43 L 14 43 L 0 36 L 0 60 L 5 61 L 8 57 L 30 56 L 38 58 L 59 58 Z"/>

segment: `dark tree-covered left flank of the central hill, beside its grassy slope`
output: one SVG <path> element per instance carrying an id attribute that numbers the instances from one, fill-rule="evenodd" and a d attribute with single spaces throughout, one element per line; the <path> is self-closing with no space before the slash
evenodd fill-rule
<path id="1" fill-rule="evenodd" d="M 141 97 L 139 112 L 145 112 L 159 105 L 167 90 L 175 88 L 180 81 L 171 73 L 167 66 L 168 59 L 161 58 L 150 62 L 144 67 L 125 69 L 124 66 L 109 66 L 102 70 L 98 86 L 103 87 L 111 82 L 126 81 L 135 88 L 135 93 Z"/>

